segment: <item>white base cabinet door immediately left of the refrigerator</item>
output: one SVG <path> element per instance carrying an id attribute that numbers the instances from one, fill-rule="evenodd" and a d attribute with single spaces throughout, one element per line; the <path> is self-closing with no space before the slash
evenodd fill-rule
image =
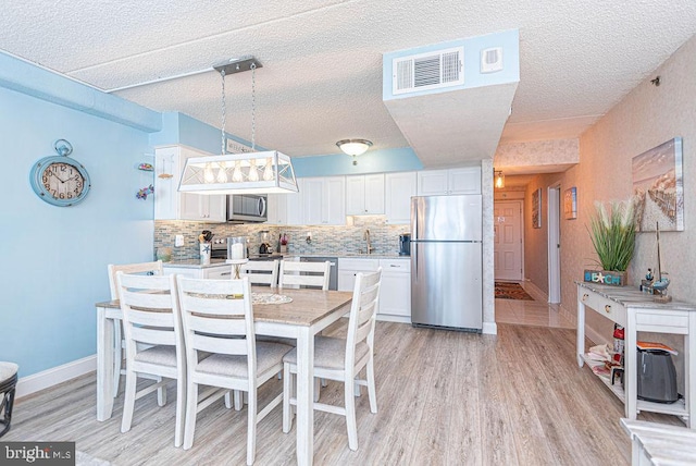
<path id="1" fill-rule="evenodd" d="M 377 318 L 411 322 L 411 260 L 380 259 L 380 311 Z"/>

